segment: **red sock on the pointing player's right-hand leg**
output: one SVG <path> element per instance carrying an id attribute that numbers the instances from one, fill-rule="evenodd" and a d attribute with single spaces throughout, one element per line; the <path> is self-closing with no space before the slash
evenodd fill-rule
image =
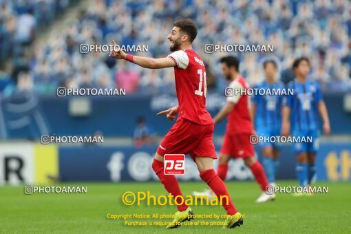
<path id="1" fill-rule="evenodd" d="M 226 213 L 228 215 L 234 215 L 237 213 L 237 209 L 235 209 L 235 206 L 231 200 L 231 195 L 229 195 L 228 190 L 226 190 L 226 184 L 224 184 L 223 180 L 218 177 L 215 170 L 209 169 L 202 171 L 202 173 L 200 173 L 200 177 L 202 180 L 204 180 L 204 182 L 206 182 L 206 184 L 209 184 L 209 187 L 212 189 L 215 195 L 217 195 L 219 200 L 221 195 L 226 195 L 228 197 L 228 202 L 226 199 L 222 199 L 222 205 L 224 209 L 226 209 Z"/>

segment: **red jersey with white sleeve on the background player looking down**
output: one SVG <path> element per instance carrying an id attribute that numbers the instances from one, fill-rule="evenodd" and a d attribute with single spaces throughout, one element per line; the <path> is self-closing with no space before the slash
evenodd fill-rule
<path id="1" fill-rule="evenodd" d="M 239 76 L 229 85 L 233 89 L 233 96 L 228 96 L 228 102 L 235 103 L 234 109 L 228 115 L 226 134 L 252 134 L 253 124 L 250 116 L 250 97 L 246 94 L 248 83 Z"/>

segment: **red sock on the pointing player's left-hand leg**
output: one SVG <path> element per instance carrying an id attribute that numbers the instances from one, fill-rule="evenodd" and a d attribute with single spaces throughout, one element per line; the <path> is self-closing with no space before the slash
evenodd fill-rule
<path id="1" fill-rule="evenodd" d="M 164 175 L 163 172 L 163 162 L 160 162 L 159 160 L 154 159 L 152 162 L 152 169 L 155 171 L 156 175 L 158 178 L 160 178 L 161 183 L 164 185 L 164 188 L 167 190 L 167 192 L 171 193 L 174 198 L 178 195 L 182 195 L 182 191 L 180 191 L 180 187 L 178 184 L 177 178 L 175 178 L 175 175 Z M 176 202 L 180 204 L 182 202 L 182 198 L 176 198 Z M 183 201 L 185 201 L 183 197 Z M 178 205 L 178 211 L 185 211 L 188 209 L 188 206 L 183 202 L 183 204 Z"/>

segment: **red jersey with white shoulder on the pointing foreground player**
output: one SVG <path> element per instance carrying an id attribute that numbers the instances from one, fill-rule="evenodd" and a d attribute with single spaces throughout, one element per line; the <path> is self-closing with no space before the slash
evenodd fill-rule
<path id="1" fill-rule="evenodd" d="M 178 50 L 169 54 L 174 63 L 177 91 L 178 120 L 185 118 L 198 125 L 213 123 L 206 110 L 206 70 L 202 58 L 193 50 Z"/>

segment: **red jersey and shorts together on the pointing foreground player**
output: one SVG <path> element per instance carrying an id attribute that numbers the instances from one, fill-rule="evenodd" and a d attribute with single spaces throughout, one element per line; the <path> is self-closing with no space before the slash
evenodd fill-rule
<path id="1" fill-rule="evenodd" d="M 169 54 L 174 63 L 179 112 L 176 123 L 162 139 L 157 153 L 189 154 L 217 158 L 213 145 L 213 120 L 206 110 L 206 70 L 193 50 Z"/>

